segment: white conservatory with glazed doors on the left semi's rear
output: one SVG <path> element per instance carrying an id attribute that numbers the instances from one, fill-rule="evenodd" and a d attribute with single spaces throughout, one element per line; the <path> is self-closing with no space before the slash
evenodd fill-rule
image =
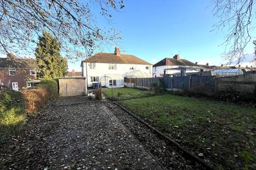
<path id="1" fill-rule="evenodd" d="M 108 88 L 124 87 L 124 78 L 120 74 L 105 74 L 100 77 L 101 86 Z"/>

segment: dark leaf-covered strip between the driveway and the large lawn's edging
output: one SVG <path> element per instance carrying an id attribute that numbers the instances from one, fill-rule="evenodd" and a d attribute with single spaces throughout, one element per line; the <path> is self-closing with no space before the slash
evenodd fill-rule
<path id="1" fill-rule="evenodd" d="M 168 141 L 159 137 L 154 131 L 150 130 L 145 124 L 123 111 L 119 106 L 105 102 L 113 113 L 118 117 L 127 129 L 142 143 L 164 169 L 206 169 L 189 157 L 183 156 L 182 152 L 175 146 L 169 145 Z"/>

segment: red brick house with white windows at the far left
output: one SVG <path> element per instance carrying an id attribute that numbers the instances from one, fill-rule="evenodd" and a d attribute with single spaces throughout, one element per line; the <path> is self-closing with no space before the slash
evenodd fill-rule
<path id="1" fill-rule="evenodd" d="M 7 54 L 0 58 L 0 83 L 2 89 L 18 91 L 21 88 L 31 87 L 38 83 L 36 80 L 36 60 L 33 58 L 18 58 Z"/>

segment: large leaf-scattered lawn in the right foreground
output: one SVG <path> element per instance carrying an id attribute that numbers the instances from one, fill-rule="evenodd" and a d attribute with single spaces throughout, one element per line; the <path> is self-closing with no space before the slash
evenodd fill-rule
<path id="1" fill-rule="evenodd" d="M 122 103 L 217 169 L 256 166 L 255 108 L 169 94 Z"/>

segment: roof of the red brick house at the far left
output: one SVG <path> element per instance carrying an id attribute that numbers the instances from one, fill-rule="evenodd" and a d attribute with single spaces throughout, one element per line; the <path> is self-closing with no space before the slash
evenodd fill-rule
<path id="1" fill-rule="evenodd" d="M 36 60 L 33 58 L 7 57 L 0 58 L 0 68 L 29 68 L 36 69 L 38 67 Z"/>

